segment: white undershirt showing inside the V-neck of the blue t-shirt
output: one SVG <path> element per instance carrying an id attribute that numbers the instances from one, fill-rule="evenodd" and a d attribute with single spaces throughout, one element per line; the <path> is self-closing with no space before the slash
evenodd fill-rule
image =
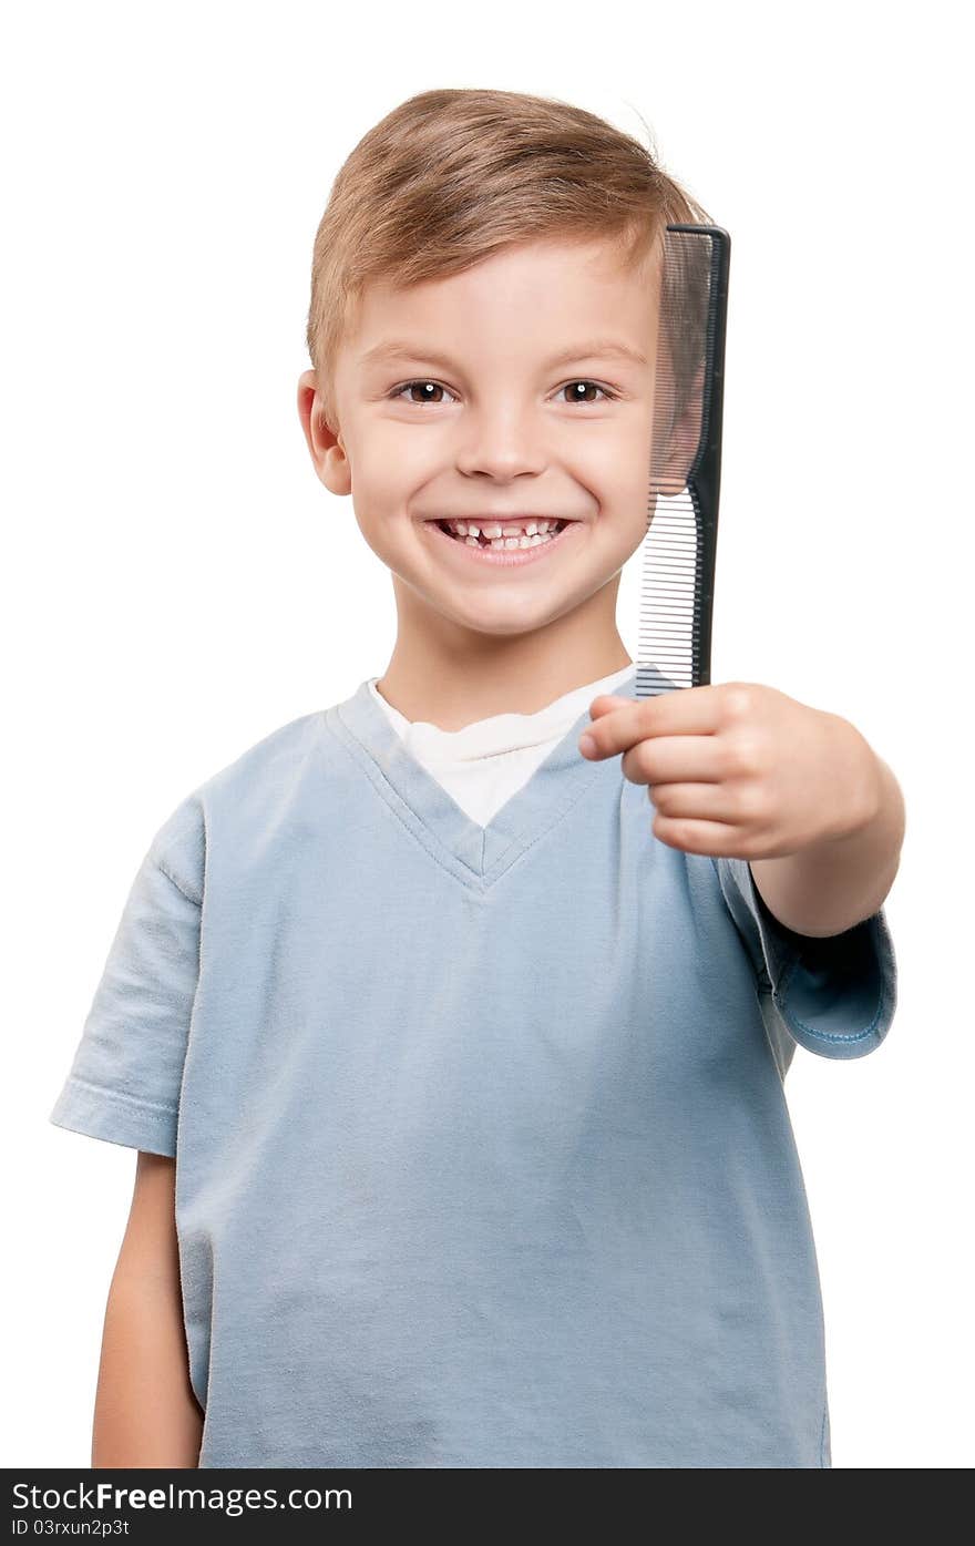
<path id="1" fill-rule="evenodd" d="M 615 693 L 634 669 L 634 665 L 623 666 L 612 676 L 586 682 L 535 714 L 491 714 L 462 730 L 440 730 L 425 719 L 411 722 L 375 691 L 379 677 L 369 677 L 368 685 L 417 762 L 471 821 L 487 827 L 511 795 L 528 782 L 593 697 Z"/>

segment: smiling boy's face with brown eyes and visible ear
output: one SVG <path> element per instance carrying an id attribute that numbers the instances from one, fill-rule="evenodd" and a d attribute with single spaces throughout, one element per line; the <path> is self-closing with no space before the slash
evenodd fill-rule
<path id="1" fill-rule="evenodd" d="M 301 376 L 318 476 L 352 495 L 369 547 L 442 617 L 494 635 L 564 617 L 646 536 L 657 305 L 655 255 L 624 272 L 603 241 L 538 241 L 409 289 L 369 286 L 335 360 L 337 433 L 314 371 Z M 573 524 L 518 566 L 436 526 L 511 515 Z"/>

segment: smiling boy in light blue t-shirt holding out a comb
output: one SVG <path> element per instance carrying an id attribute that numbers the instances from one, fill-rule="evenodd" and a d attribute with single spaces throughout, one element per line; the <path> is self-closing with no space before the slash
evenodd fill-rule
<path id="1" fill-rule="evenodd" d="M 668 221 L 516 93 L 335 179 L 298 408 L 397 640 L 133 884 L 53 1112 L 141 1150 L 96 1464 L 831 1463 L 783 1076 L 887 1034 L 902 799 L 773 688 L 634 697 Z"/>

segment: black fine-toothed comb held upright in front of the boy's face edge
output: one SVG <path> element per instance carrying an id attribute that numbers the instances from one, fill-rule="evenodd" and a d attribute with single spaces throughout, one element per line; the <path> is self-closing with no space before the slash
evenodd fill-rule
<path id="1" fill-rule="evenodd" d="M 711 682 L 729 258 L 720 226 L 666 227 L 637 697 Z"/>

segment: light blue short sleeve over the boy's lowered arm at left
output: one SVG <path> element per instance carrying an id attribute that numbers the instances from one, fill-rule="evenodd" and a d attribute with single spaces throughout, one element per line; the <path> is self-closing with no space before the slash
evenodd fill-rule
<path id="1" fill-rule="evenodd" d="M 189 796 L 134 877 L 74 1062 L 48 1121 L 176 1155 L 179 1087 L 199 976 L 202 812 Z"/>

